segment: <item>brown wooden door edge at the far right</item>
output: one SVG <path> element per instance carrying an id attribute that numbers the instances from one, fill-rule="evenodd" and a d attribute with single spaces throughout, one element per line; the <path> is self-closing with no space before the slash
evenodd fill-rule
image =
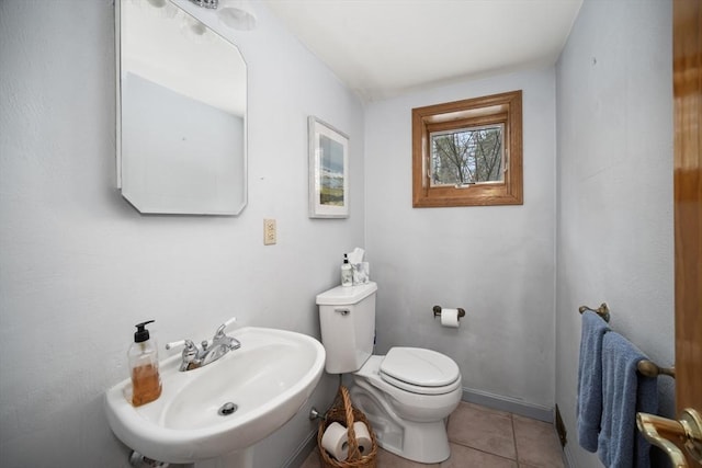
<path id="1" fill-rule="evenodd" d="M 702 410 L 702 0 L 673 1 L 676 407 Z"/>

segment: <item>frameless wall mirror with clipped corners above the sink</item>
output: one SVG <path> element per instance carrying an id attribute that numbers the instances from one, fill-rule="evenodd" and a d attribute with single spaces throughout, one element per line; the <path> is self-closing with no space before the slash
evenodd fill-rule
<path id="1" fill-rule="evenodd" d="M 117 186 L 139 213 L 238 215 L 247 203 L 239 49 L 169 0 L 118 0 Z"/>

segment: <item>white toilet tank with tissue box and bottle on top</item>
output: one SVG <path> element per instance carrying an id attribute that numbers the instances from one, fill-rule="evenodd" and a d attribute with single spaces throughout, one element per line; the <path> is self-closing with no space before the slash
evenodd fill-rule
<path id="1" fill-rule="evenodd" d="M 377 285 L 371 282 L 337 286 L 317 295 L 327 373 L 356 372 L 373 354 L 376 290 Z"/>

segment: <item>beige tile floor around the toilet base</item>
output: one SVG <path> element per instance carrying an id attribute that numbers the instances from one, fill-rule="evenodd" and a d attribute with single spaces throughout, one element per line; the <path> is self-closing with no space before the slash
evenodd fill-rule
<path id="1" fill-rule="evenodd" d="M 406 460 L 383 449 L 378 468 L 564 468 L 552 424 L 461 402 L 449 418 L 451 458 L 433 465 Z M 319 468 L 315 449 L 301 468 Z"/>

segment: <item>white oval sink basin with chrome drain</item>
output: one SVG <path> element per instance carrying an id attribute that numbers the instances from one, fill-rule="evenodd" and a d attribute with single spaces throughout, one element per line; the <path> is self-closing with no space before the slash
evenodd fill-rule
<path id="1" fill-rule="evenodd" d="M 180 354 L 159 364 L 163 391 L 134 408 L 125 398 L 129 379 L 105 393 L 110 427 L 143 455 L 179 464 L 220 458 L 250 447 L 287 422 L 317 386 L 325 350 L 312 336 L 241 328 L 241 342 L 218 361 L 180 372 Z M 231 402 L 237 410 L 220 415 Z"/>

